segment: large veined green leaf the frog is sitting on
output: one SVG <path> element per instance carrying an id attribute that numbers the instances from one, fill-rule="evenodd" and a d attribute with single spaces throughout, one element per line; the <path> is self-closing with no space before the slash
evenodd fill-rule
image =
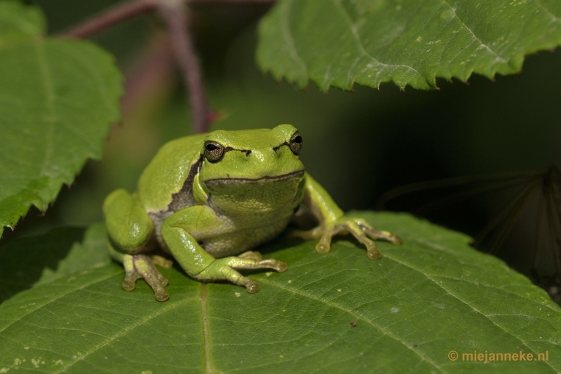
<path id="1" fill-rule="evenodd" d="M 203 285 L 171 269 L 163 270 L 165 303 L 143 281 L 133 292 L 121 289 L 123 270 L 107 265 L 101 226 L 69 230 L 83 234 L 83 243 L 68 249 L 71 240 L 61 241 L 55 257 L 68 256 L 58 269 L 0 305 L 0 373 L 561 370 L 561 310 L 544 291 L 468 247 L 465 235 L 403 214 L 360 215 L 400 234 L 403 245 L 380 242 L 384 257 L 370 261 L 343 239 L 325 255 L 313 242 L 277 240 L 262 251 L 287 261 L 288 271 L 252 275 L 258 293 Z M 25 264 L 48 246 L 32 239 L 9 245 L 0 256 L 17 249 L 20 260 L 10 260 L 11 275 L 3 270 L 0 282 L 26 272 L 39 277 L 38 267 Z M 543 353 L 548 361 L 462 360 L 474 351 Z"/>

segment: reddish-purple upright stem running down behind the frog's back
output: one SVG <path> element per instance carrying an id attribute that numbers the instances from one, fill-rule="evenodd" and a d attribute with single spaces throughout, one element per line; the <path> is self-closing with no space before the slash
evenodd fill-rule
<path id="1" fill-rule="evenodd" d="M 205 87 L 198 60 L 187 25 L 187 6 L 184 1 L 162 1 L 158 5 L 165 23 L 170 29 L 175 58 L 183 73 L 185 85 L 189 88 L 189 102 L 193 111 L 193 130 L 196 134 L 206 132 L 209 111 L 205 102 Z"/>

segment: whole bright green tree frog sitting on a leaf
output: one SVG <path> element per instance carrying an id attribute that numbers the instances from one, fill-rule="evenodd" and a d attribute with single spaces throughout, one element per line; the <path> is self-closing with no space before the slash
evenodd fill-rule
<path id="1" fill-rule="evenodd" d="M 351 233 L 372 259 L 380 257 L 373 240 L 400 243 L 396 235 L 346 217 L 304 171 L 301 148 L 302 136 L 292 125 L 217 130 L 165 144 L 135 193 L 116 190 L 103 204 L 109 253 L 126 272 L 123 289 L 132 291 L 144 278 L 156 300 L 168 299 L 168 279 L 155 265 L 170 268 L 172 262 L 154 254 L 159 248 L 194 279 L 226 280 L 255 293 L 259 284 L 238 270 L 287 270 L 285 262 L 250 249 L 283 231 L 301 204 L 318 226 L 295 235 L 318 240 L 320 253 L 339 234 Z"/>

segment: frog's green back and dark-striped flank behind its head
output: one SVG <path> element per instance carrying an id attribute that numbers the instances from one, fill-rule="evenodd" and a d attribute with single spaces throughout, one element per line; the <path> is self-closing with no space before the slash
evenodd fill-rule
<path id="1" fill-rule="evenodd" d="M 144 169 L 137 193 L 147 212 L 163 212 L 194 205 L 191 188 L 201 165 L 206 134 L 182 137 L 164 144 Z"/>

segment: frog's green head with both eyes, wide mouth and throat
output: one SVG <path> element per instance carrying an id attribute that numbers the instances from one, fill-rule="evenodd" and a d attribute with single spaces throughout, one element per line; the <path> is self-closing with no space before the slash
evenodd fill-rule
<path id="1" fill-rule="evenodd" d="M 267 205 L 277 198 L 292 200 L 304 177 L 300 148 L 302 136 L 292 125 L 210 132 L 201 149 L 198 183 L 215 202 L 221 196 L 233 204 L 259 196 Z"/>

